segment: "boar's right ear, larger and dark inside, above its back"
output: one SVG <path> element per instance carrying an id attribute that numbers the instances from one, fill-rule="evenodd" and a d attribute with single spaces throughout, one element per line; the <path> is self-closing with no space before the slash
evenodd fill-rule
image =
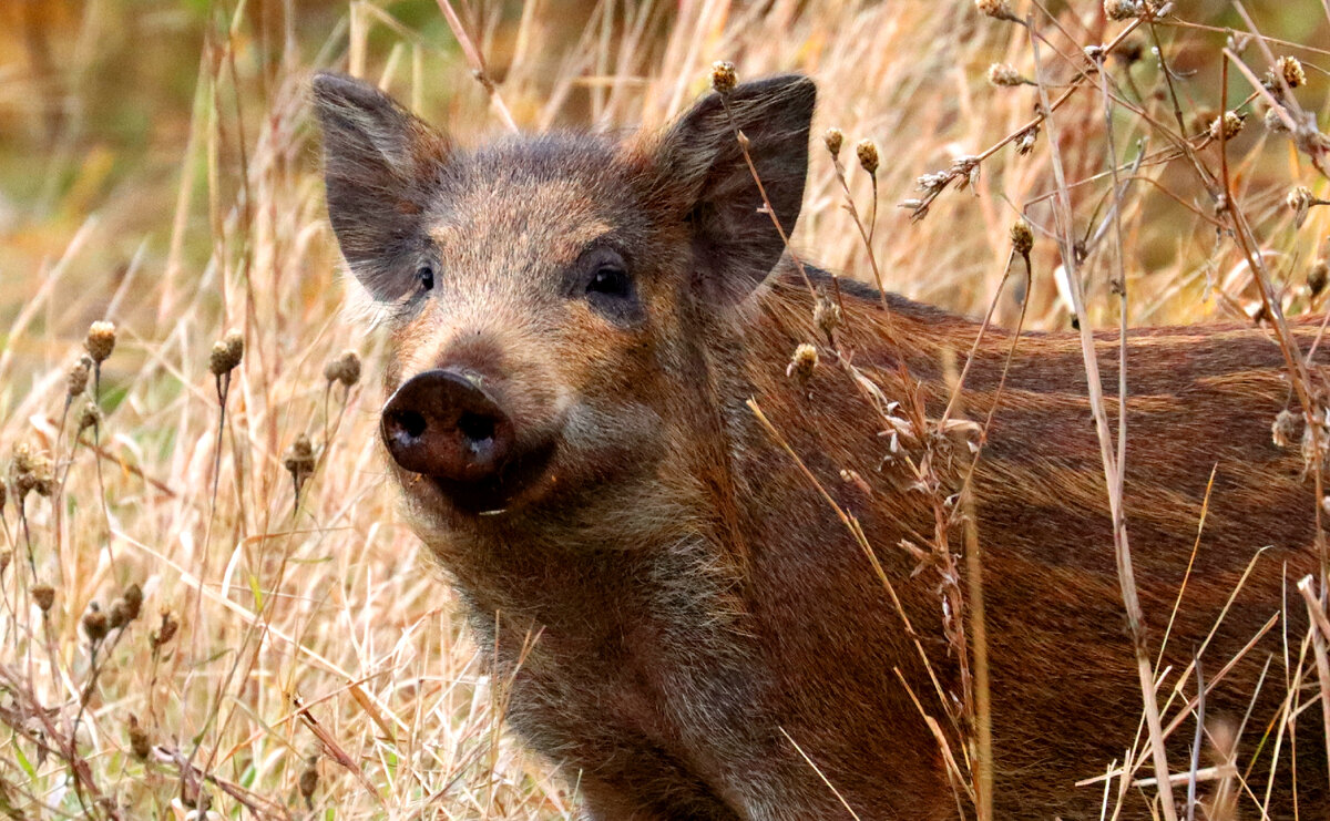
<path id="1" fill-rule="evenodd" d="M 766 279 L 785 243 L 762 209 L 734 132 L 786 234 L 794 230 L 809 171 L 809 126 L 817 86 L 786 74 L 708 94 L 656 150 L 657 190 L 693 234 L 694 274 L 704 299 L 733 304 Z"/>

